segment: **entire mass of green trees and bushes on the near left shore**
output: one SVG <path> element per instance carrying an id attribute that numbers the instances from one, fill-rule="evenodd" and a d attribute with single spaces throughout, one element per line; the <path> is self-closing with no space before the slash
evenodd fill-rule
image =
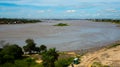
<path id="1" fill-rule="evenodd" d="M 73 61 L 70 56 L 59 58 L 59 53 L 55 48 L 47 50 L 45 45 L 36 47 L 33 39 L 27 39 L 26 45 L 19 47 L 16 44 L 5 44 L 0 48 L 0 67 L 67 67 Z M 23 54 L 28 53 L 28 54 Z M 36 63 L 32 55 L 40 54 L 42 63 Z M 63 56 L 63 54 L 60 54 Z"/>

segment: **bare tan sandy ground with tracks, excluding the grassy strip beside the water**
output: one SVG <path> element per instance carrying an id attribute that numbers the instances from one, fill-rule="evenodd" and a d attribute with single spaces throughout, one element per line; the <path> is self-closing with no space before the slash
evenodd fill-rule
<path id="1" fill-rule="evenodd" d="M 74 65 L 74 67 L 91 67 L 92 63 L 96 61 L 101 62 L 103 65 L 116 65 L 113 63 L 120 65 L 120 61 L 118 60 L 120 60 L 120 46 L 111 49 L 104 48 L 94 53 L 88 53 L 82 57 L 81 63 Z"/>

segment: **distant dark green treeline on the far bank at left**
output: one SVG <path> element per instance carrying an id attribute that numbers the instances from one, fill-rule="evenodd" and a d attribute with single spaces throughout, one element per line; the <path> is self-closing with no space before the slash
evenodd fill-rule
<path id="1" fill-rule="evenodd" d="M 0 18 L 0 24 L 24 24 L 24 23 L 36 23 L 36 22 L 41 22 L 41 20 Z"/>

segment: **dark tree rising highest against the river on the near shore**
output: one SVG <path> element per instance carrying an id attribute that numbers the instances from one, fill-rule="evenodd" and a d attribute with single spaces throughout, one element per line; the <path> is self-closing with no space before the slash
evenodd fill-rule
<path id="1" fill-rule="evenodd" d="M 29 54 L 31 54 L 32 51 L 35 50 L 35 45 L 36 44 L 34 43 L 33 39 L 27 39 L 25 42 L 27 43 L 27 45 L 23 46 L 23 49 L 24 49 L 25 52 L 29 52 Z"/>

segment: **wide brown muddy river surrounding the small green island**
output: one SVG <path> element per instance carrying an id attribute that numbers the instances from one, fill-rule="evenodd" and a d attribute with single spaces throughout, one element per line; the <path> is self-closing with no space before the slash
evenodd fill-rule
<path id="1" fill-rule="evenodd" d="M 69 26 L 53 26 L 57 23 L 67 23 Z M 24 46 L 28 38 L 34 39 L 37 46 L 45 44 L 48 48 L 56 47 L 60 51 L 79 50 L 120 40 L 120 27 L 86 20 L 0 25 L 0 40 Z"/>

